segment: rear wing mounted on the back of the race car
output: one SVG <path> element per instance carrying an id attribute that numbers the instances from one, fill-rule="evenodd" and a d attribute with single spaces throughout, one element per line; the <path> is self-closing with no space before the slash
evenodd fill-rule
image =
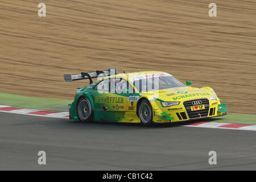
<path id="1" fill-rule="evenodd" d="M 89 72 L 89 73 L 84 73 L 81 72 L 79 74 L 64 74 L 64 80 L 67 82 L 72 82 L 76 80 L 84 80 L 84 79 L 89 79 L 90 84 L 92 84 L 92 78 L 97 78 L 100 74 L 101 76 L 110 76 L 110 75 L 116 75 L 117 74 L 117 68 L 109 68 L 106 71 L 96 71 L 96 72 Z"/>

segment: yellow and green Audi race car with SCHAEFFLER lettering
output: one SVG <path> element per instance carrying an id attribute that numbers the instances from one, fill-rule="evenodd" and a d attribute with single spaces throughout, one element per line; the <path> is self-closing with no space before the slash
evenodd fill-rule
<path id="1" fill-rule="evenodd" d="M 92 78 L 98 78 L 93 82 Z M 225 104 L 210 87 L 195 88 L 165 72 L 118 73 L 107 71 L 64 74 L 64 80 L 89 79 L 69 104 L 75 121 L 131 122 L 151 125 L 225 115 Z"/>

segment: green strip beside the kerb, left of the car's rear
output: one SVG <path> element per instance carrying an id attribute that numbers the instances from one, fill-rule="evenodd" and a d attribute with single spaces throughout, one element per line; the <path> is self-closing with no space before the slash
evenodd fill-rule
<path id="1" fill-rule="evenodd" d="M 0 93 L 0 105 L 7 105 L 12 107 L 68 111 L 68 104 L 70 104 L 71 102 L 72 100 L 19 96 L 15 94 Z"/>

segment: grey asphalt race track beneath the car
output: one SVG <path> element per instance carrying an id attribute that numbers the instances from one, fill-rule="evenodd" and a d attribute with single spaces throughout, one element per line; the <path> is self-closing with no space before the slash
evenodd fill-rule
<path id="1" fill-rule="evenodd" d="M 0 169 L 256 169 L 255 131 L 69 119 L 0 113 Z M 38 151 L 46 151 L 46 165 Z M 217 165 L 208 163 L 217 152 Z"/>

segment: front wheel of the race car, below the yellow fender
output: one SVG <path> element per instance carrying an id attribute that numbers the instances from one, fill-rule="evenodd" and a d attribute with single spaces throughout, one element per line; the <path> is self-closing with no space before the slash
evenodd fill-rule
<path id="1" fill-rule="evenodd" d="M 138 107 L 138 115 L 139 119 L 141 119 L 141 123 L 144 126 L 151 126 L 152 125 L 152 107 L 148 100 L 143 100 L 139 103 Z"/>

